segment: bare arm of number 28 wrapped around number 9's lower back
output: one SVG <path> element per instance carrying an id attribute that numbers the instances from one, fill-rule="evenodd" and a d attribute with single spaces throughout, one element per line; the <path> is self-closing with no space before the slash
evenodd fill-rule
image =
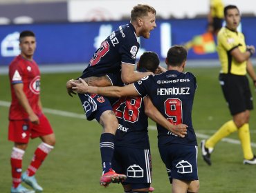
<path id="1" fill-rule="evenodd" d="M 169 121 L 165 119 L 165 117 L 157 110 L 155 105 L 152 103 L 151 99 L 149 97 L 144 97 L 144 105 L 145 105 L 145 114 L 158 123 L 159 125 L 162 125 L 164 128 L 169 130 L 170 132 L 181 136 L 182 138 L 185 137 L 185 134 L 187 134 L 187 128 L 188 125 L 179 124 L 179 125 L 173 125 Z"/>

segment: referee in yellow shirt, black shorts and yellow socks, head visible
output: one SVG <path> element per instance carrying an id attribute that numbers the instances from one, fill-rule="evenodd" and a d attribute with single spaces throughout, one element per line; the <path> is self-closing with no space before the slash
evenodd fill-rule
<path id="1" fill-rule="evenodd" d="M 224 8 L 226 26 L 217 35 L 217 52 L 221 62 L 219 82 L 232 114 L 232 120 L 224 123 L 209 139 L 201 141 L 203 160 L 211 165 L 210 154 L 214 146 L 232 132 L 238 132 L 244 153 L 244 164 L 255 165 L 256 156 L 250 146 L 249 119 L 253 110 L 253 97 L 246 73 L 256 87 L 256 74 L 250 57 L 255 53 L 253 45 L 247 45 L 244 34 L 237 32 L 241 17 L 237 6 Z"/>

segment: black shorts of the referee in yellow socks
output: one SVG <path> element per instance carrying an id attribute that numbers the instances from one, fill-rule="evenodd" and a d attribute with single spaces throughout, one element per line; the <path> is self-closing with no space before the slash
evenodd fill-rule
<path id="1" fill-rule="evenodd" d="M 219 74 L 219 83 L 232 115 L 253 110 L 253 96 L 246 75 Z"/>

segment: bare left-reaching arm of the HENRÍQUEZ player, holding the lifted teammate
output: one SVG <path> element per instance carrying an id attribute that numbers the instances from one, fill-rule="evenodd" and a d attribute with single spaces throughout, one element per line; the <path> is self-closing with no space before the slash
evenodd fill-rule
<path id="1" fill-rule="evenodd" d="M 102 96 L 122 97 L 122 96 L 140 96 L 134 85 L 108 86 L 108 87 L 95 87 L 89 86 L 83 79 L 79 79 L 81 83 L 71 82 L 73 85 L 72 90 L 80 94 L 100 94 Z"/>

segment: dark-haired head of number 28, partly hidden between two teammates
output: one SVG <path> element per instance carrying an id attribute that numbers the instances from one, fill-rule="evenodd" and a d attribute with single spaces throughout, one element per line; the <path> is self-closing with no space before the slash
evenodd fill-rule
<path id="1" fill-rule="evenodd" d="M 145 68 L 146 70 L 155 73 L 160 60 L 156 52 L 147 51 L 140 56 L 139 68 Z"/>

